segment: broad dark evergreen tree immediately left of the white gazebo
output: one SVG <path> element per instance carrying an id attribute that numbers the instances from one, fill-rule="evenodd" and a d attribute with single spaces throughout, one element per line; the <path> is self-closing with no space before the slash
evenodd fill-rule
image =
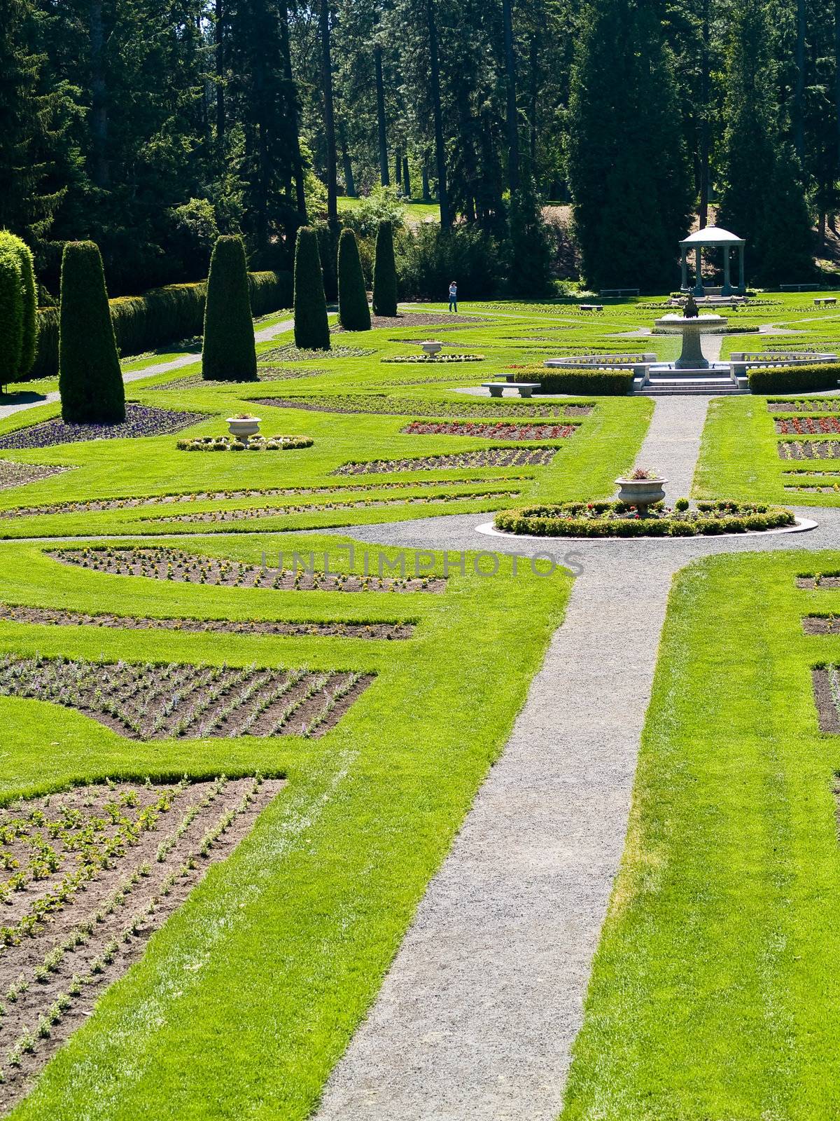
<path id="1" fill-rule="evenodd" d="M 587 9 L 572 72 L 568 157 L 587 284 L 673 285 L 690 189 L 672 59 L 652 6 L 597 0 Z"/>

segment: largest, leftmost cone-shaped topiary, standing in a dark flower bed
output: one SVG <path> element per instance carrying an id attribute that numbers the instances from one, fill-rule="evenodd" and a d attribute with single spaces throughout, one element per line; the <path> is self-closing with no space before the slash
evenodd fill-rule
<path id="1" fill-rule="evenodd" d="M 125 419 L 116 340 L 99 245 L 68 241 L 62 257 L 58 391 L 65 424 Z"/>

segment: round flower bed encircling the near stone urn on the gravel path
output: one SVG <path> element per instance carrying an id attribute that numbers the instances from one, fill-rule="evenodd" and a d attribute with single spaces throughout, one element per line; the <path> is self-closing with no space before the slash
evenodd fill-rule
<path id="1" fill-rule="evenodd" d="M 683 503 L 685 508 L 683 509 Z M 530 506 L 496 515 L 496 529 L 533 537 L 697 537 L 708 534 L 745 534 L 793 526 L 791 510 L 743 502 L 698 502 L 689 509 L 662 502 L 643 517 L 626 502 L 562 502 Z"/>

